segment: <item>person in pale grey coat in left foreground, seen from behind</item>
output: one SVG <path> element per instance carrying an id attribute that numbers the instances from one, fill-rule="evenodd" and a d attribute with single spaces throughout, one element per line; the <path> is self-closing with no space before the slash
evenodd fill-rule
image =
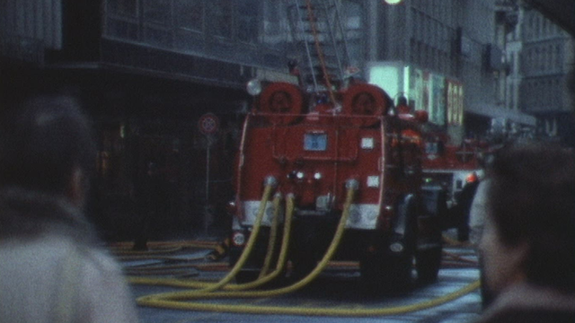
<path id="1" fill-rule="evenodd" d="M 0 126 L 0 322 L 137 322 L 84 218 L 95 145 L 75 100 L 26 100 Z"/>

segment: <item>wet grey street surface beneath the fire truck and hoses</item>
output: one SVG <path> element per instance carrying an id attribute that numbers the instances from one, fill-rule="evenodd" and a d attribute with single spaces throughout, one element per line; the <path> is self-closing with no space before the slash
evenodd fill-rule
<path id="1" fill-rule="evenodd" d="M 213 245 L 212 245 L 213 246 Z M 193 280 L 217 281 L 225 276 L 226 258 L 208 261 L 212 246 L 190 246 L 188 242 L 167 242 L 152 245 L 146 252 L 133 252 L 127 246 L 116 246 L 114 253 L 130 277 L 178 277 Z M 438 300 L 447 294 L 460 291 L 479 277 L 473 264 L 473 249 L 448 247 L 444 249 L 444 261 L 439 271 L 438 282 L 414 286 L 402 294 L 366 295 L 359 288 L 357 266 L 334 263 L 314 282 L 296 292 L 255 298 L 200 299 L 195 303 L 239 306 L 265 314 L 237 313 L 222 308 L 217 310 L 173 310 L 162 307 L 138 306 L 143 323 L 184 322 L 469 322 L 479 316 L 481 310 L 478 290 L 465 293 L 453 301 L 424 310 L 408 311 L 386 315 L 382 309 L 403 309 L 405 306 Z M 131 284 L 135 299 L 159 292 L 184 291 L 185 289 L 164 285 Z M 279 309 L 278 314 L 267 313 Z M 283 309 L 296 310 L 287 314 Z M 346 313 L 323 313 L 311 315 L 308 310 L 331 309 Z M 359 316 L 348 316 L 349 310 Z M 367 314 L 365 311 L 367 310 Z M 300 313 L 301 311 L 301 313 Z M 341 312 L 340 312 L 341 313 Z"/>

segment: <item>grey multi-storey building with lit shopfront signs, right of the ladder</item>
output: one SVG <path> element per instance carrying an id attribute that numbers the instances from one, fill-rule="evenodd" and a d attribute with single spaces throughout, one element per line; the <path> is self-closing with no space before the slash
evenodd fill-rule
<path id="1" fill-rule="evenodd" d="M 403 1 L 377 6 L 369 60 L 406 66 L 400 85 L 413 109 L 427 109 L 454 144 L 484 139 L 502 127 L 535 127 L 535 118 L 507 105 L 504 50 L 514 18 L 495 1 Z M 374 36 L 376 35 L 376 36 Z M 385 86 L 384 86 L 385 87 Z M 394 93 L 392 93 L 394 95 Z"/>

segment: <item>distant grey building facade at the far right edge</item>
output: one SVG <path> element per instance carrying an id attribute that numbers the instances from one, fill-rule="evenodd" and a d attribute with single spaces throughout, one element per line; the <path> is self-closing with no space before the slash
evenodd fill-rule
<path id="1" fill-rule="evenodd" d="M 573 102 L 566 81 L 573 64 L 573 38 L 541 13 L 522 7 L 522 76 L 518 104 L 537 118 L 537 135 L 561 140 L 573 135 Z"/>

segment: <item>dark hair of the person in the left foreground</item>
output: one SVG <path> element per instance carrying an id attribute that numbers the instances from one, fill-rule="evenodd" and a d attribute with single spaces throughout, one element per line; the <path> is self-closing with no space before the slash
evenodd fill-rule
<path id="1" fill-rule="evenodd" d="M 91 125 L 75 99 L 39 96 L 3 112 L 0 186 L 62 194 L 76 168 L 92 175 Z"/>

